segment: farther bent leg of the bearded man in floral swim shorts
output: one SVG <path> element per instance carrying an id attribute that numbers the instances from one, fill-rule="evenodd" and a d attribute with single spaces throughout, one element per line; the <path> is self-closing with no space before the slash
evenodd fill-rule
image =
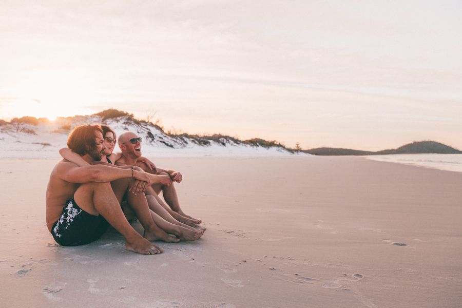
<path id="1" fill-rule="evenodd" d="M 179 240 L 171 235 L 168 235 L 152 220 L 149 206 L 144 194 L 134 195 L 127 191 L 132 179 L 120 179 L 111 182 L 112 189 L 118 200 L 122 200 L 124 194 L 127 198 L 127 203 L 138 217 L 141 225 L 144 227 L 144 237 L 149 241 L 162 240 L 165 242 L 178 242 Z"/>

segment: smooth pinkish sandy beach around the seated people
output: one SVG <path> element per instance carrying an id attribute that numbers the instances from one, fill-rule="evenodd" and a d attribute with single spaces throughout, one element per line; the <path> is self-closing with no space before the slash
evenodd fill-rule
<path id="1" fill-rule="evenodd" d="M 359 157 L 161 158 L 196 242 L 61 247 L 54 159 L 0 159 L 5 307 L 460 307 L 462 174 Z M 134 226 L 142 232 L 137 222 Z"/>

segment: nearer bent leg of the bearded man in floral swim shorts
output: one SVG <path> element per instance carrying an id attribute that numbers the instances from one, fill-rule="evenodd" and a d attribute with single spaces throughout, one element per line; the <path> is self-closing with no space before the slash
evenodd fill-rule
<path id="1" fill-rule="evenodd" d="M 125 248 L 128 251 L 143 255 L 163 252 L 163 249 L 143 238 L 128 223 L 109 183 L 83 184 L 75 191 L 74 200 L 84 211 L 90 215 L 103 216 L 118 230 L 125 238 Z"/>

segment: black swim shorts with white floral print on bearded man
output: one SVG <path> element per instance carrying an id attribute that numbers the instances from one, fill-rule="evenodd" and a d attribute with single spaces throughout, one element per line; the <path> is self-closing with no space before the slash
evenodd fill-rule
<path id="1" fill-rule="evenodd" d="M 51 234 L 60 245 L 76 246 L 99 239 L 108 227 L 109 223 L 103 216 L 88 214 L 72 198 L 66 201 L 63 214 L 51 228 Z"/>

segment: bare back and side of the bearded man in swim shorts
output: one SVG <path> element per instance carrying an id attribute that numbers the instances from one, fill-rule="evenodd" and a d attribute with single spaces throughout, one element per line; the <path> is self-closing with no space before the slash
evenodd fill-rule
<path id="1" fill-rule="evenodd" d="M 67 160 L 61 160 L 54 166 L 53 171 L 51 171 L 46 193 L 46 220 L 48 230 L 50 231 L 53 224 L 60 218 L 66 201 L 74 196 L 74 192 L 80 186 L 79 183 L 70 183 L 61 179 L 57 172 L 60 164 L 77 166 Z"/>

